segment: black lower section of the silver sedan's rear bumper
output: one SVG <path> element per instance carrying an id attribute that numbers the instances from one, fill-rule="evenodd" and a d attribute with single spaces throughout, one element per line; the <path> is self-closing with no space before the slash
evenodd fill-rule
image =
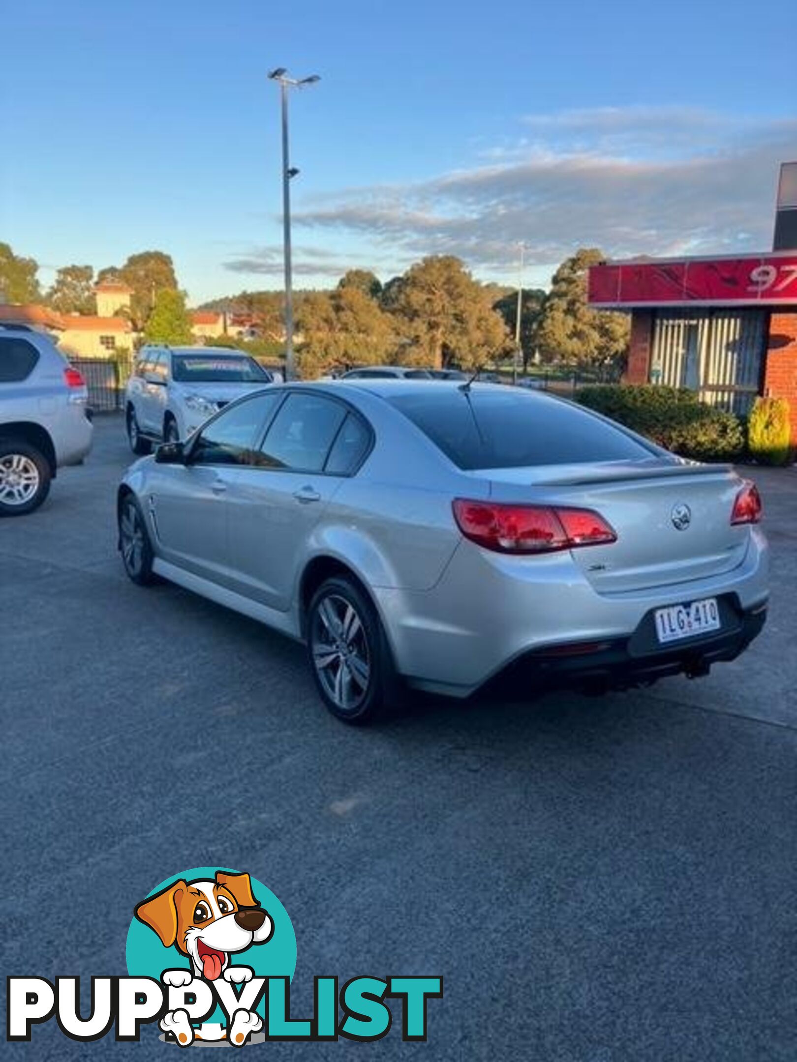
<path id="1" fill-rule="evenodd" d="M 647 685 L 667 675 L 690 678 L 707 674 L 712 664 L 735 660 L 761 633 L 766 622 L 766 603 L 743 611 L 735 595 L 724 604 L 726 629 L 714 635 L 684 639 L 680 645 L 649 643 L 649 617 L 630 638 L 611 641 L 564 643 L 526 653 L 498 676 L 501 683 L 537 688 L 576 686 L 624 689 Z"/>

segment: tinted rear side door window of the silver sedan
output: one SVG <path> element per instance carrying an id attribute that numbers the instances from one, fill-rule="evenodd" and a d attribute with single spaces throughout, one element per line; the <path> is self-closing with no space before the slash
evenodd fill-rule
<path id="1" fill-rule="evenodd" d="M 292 394 L 282 406 L 261 446 L 271 468 L 321 472 L 345 407 L 321 395 Z"/>

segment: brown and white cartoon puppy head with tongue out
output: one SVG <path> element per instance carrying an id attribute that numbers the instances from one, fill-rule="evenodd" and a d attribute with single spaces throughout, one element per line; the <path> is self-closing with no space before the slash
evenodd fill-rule
<path id="1" fill-rule="evenodd" d="M 265 944 L 274 923 L 252 894 L 249 874 L 216 872 L 213 881 L 184 881 L 136 905 L 135 915 L 160 938 L 164 947 L 177 948 L 191 960 L 197 977 L 236 984 L 252 976 L 248 966 L 231 966 L 230 956 L 252 944 Z M 249 974 L 249 976 L 247 976 Z"/>

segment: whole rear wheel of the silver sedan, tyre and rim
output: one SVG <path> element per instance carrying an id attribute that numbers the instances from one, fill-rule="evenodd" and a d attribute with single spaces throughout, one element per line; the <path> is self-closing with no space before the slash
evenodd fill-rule
<path id="1" fill-rule="evenodd" d="M 355 580 L 335 576 L 307 610 L 307 653 L 326 707 L 343 722 L 373 722 L 396 704 L 393 656 L 373 602 Z"/>

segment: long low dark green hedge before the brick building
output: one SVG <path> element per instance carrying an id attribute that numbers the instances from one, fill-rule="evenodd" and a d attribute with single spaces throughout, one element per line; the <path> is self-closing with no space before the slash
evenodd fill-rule
<path id="1" fill-rule="evenodd" d="M 581 388 L 576 400 L 682 457 L 733 461 L 744 452 L 739 417 L 702 405 L 694 391 L 599 384 Z"/>

